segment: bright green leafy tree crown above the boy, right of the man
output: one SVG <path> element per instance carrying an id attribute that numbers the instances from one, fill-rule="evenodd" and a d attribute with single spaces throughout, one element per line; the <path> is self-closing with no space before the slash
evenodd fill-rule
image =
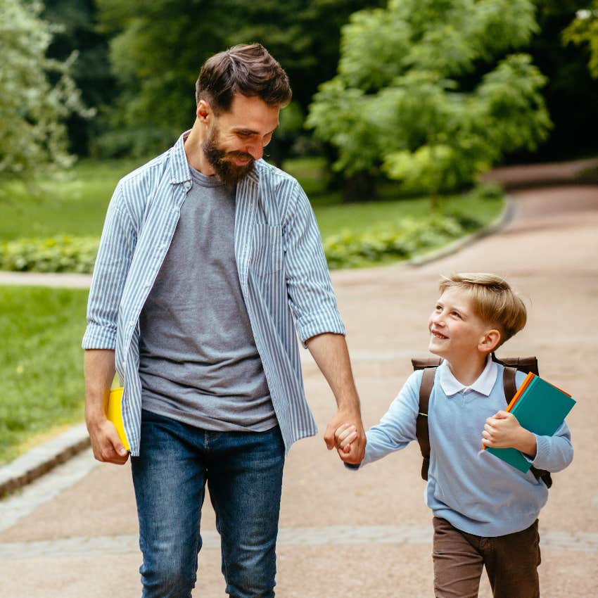
<path id="1" fill-rule="evenodd" d="M 545 77 L 509 53 L 535 30 L 528 0 L 390 0 L 357 12 L 307 123 L 338 148 L 345 177 L 381 169 L 433 197 L 469 184 L 547 136 Z"/>

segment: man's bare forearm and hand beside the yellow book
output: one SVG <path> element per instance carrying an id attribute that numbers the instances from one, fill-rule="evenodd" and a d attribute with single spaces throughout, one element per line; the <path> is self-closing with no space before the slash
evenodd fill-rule
<path id="1" fill-rule="evenodd" d="M 122 465 L 129 453 L 122 445 L 114 424 L 106 419 L 110 385 L 115 374 L 114 351 L 88 349 L 84 357 L 85 421 L 94 457 L 101 462 Z"/>

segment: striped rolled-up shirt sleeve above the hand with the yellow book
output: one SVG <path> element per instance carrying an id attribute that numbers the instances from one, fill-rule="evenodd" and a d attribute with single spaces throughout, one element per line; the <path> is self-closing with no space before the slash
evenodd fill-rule
<path id="1" fill-rule="evenodd" d="M 136 231 L 118 184 L 106 214 L 87 302 L 84 349 L 114 349 L 118 308 L 131 264 Z"/>

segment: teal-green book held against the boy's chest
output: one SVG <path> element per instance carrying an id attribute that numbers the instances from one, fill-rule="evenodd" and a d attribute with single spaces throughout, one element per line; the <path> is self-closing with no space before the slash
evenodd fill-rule
<path id="1" fill-rule="evenodd" d="M 539 376 L 535 376 L 528 388 L 515 403 L 511 413 L 521 427 L 540 436 L 552 436 L 565 421 L 568 412 L 573 409 L 573 400 L 563 390 L 552 386 Z M 487 447 L 499 459 L 516 467 L 519 471 L 529 471 L 532 464 L 523 457 L 523 453 L 514 448 L 497 449 Z"/>

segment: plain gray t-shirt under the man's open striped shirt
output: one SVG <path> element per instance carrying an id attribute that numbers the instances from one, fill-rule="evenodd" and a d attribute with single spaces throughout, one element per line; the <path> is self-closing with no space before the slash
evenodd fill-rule
<path id="1" fill-rule="evenodd" d="M 139 317 L 142 406 L 206 430 L 265 431 L 276 416 L 238 281 L 235 192 L 191 175 Z"/>

